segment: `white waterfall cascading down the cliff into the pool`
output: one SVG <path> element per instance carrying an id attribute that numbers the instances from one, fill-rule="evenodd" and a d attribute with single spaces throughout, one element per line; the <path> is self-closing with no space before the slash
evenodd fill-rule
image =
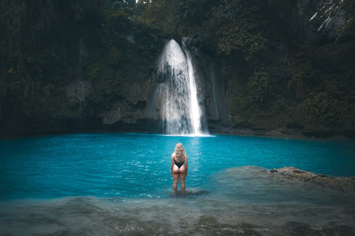
<path id="1" fill-rule="evenodd" d="M 186 39 L 184 39 L 186 40 Z M 184 50 L 183 50 L 184 49 Z M 202 135 L 201 108 L 192 66 L 192 55 L 175 40 L 165 44 L 159 61 L 162 107 L 160 117 L 167 134 Z"/>

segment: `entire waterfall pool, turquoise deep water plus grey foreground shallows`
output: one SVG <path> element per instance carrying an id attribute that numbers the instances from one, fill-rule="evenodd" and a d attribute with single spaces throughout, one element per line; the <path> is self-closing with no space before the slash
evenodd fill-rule
<path id="1" fill-rule="evenodd" d="M 185 193 L 172 191 L 177 142 Z M 353 195 L 267 172 L 355 176 L 354 141 L 93 133 L 0 140 L 0 152 L 4 234 L 355 233 Z"/>

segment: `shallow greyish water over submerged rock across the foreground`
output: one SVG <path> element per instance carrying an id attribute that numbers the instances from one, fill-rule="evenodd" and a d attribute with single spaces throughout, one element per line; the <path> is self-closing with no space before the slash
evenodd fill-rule
<path id="1" fill-rule="evenodd" d="M 238 173 L 238 174 L 236 174 Z M 354 235 L 349 193 L 256 167 L 215 176 L 215 192 L 167 198 L 64 197 L 0 203 L 1 235 Z M 220 189 L 218 189 L 220 186 Z"/>

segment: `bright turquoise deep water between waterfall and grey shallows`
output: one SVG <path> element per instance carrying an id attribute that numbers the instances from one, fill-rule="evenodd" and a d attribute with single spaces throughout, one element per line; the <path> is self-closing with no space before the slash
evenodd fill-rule
<path id="1" fill-rule="evenodd" d="M 212 195 L 230 194 L 230 189 L 236 188 L 243 189 L 236 198 L 256 196 L 260 200 L 255 187 L 240 186 L 242 181 L 252 179 L 255 168 L 293 166 L 329 176 L 355 176 L 353 141 L 229 135 L 50 135 L 0 141 L 0 200 L 168 198 L 173 185 L 171 153 L 177 142 L 182 142 L 187 152 L 187 190 Z M 253 166 L 250 171 L 245 168 L 249 166 Z M 230 168 L 241 169 L 235 173 L 237 183 L 227 188 L 224 181 L 230 177 L 225 173 L 230 174 Z"/>

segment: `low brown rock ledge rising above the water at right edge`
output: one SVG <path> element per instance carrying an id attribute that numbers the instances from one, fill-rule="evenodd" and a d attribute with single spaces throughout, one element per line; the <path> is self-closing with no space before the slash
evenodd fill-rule
<path id="1" fill-rule="evenodd" d="M 279 174 L 289 179 L 306 181 L 312 184 L 326 186 L 334 190 L 339 190 L 355 195 L 355 176 L 335 178 L 322 174 L 314 174 L 294 167 L 283 167 L 270 170 L 271 173 Z"/>

